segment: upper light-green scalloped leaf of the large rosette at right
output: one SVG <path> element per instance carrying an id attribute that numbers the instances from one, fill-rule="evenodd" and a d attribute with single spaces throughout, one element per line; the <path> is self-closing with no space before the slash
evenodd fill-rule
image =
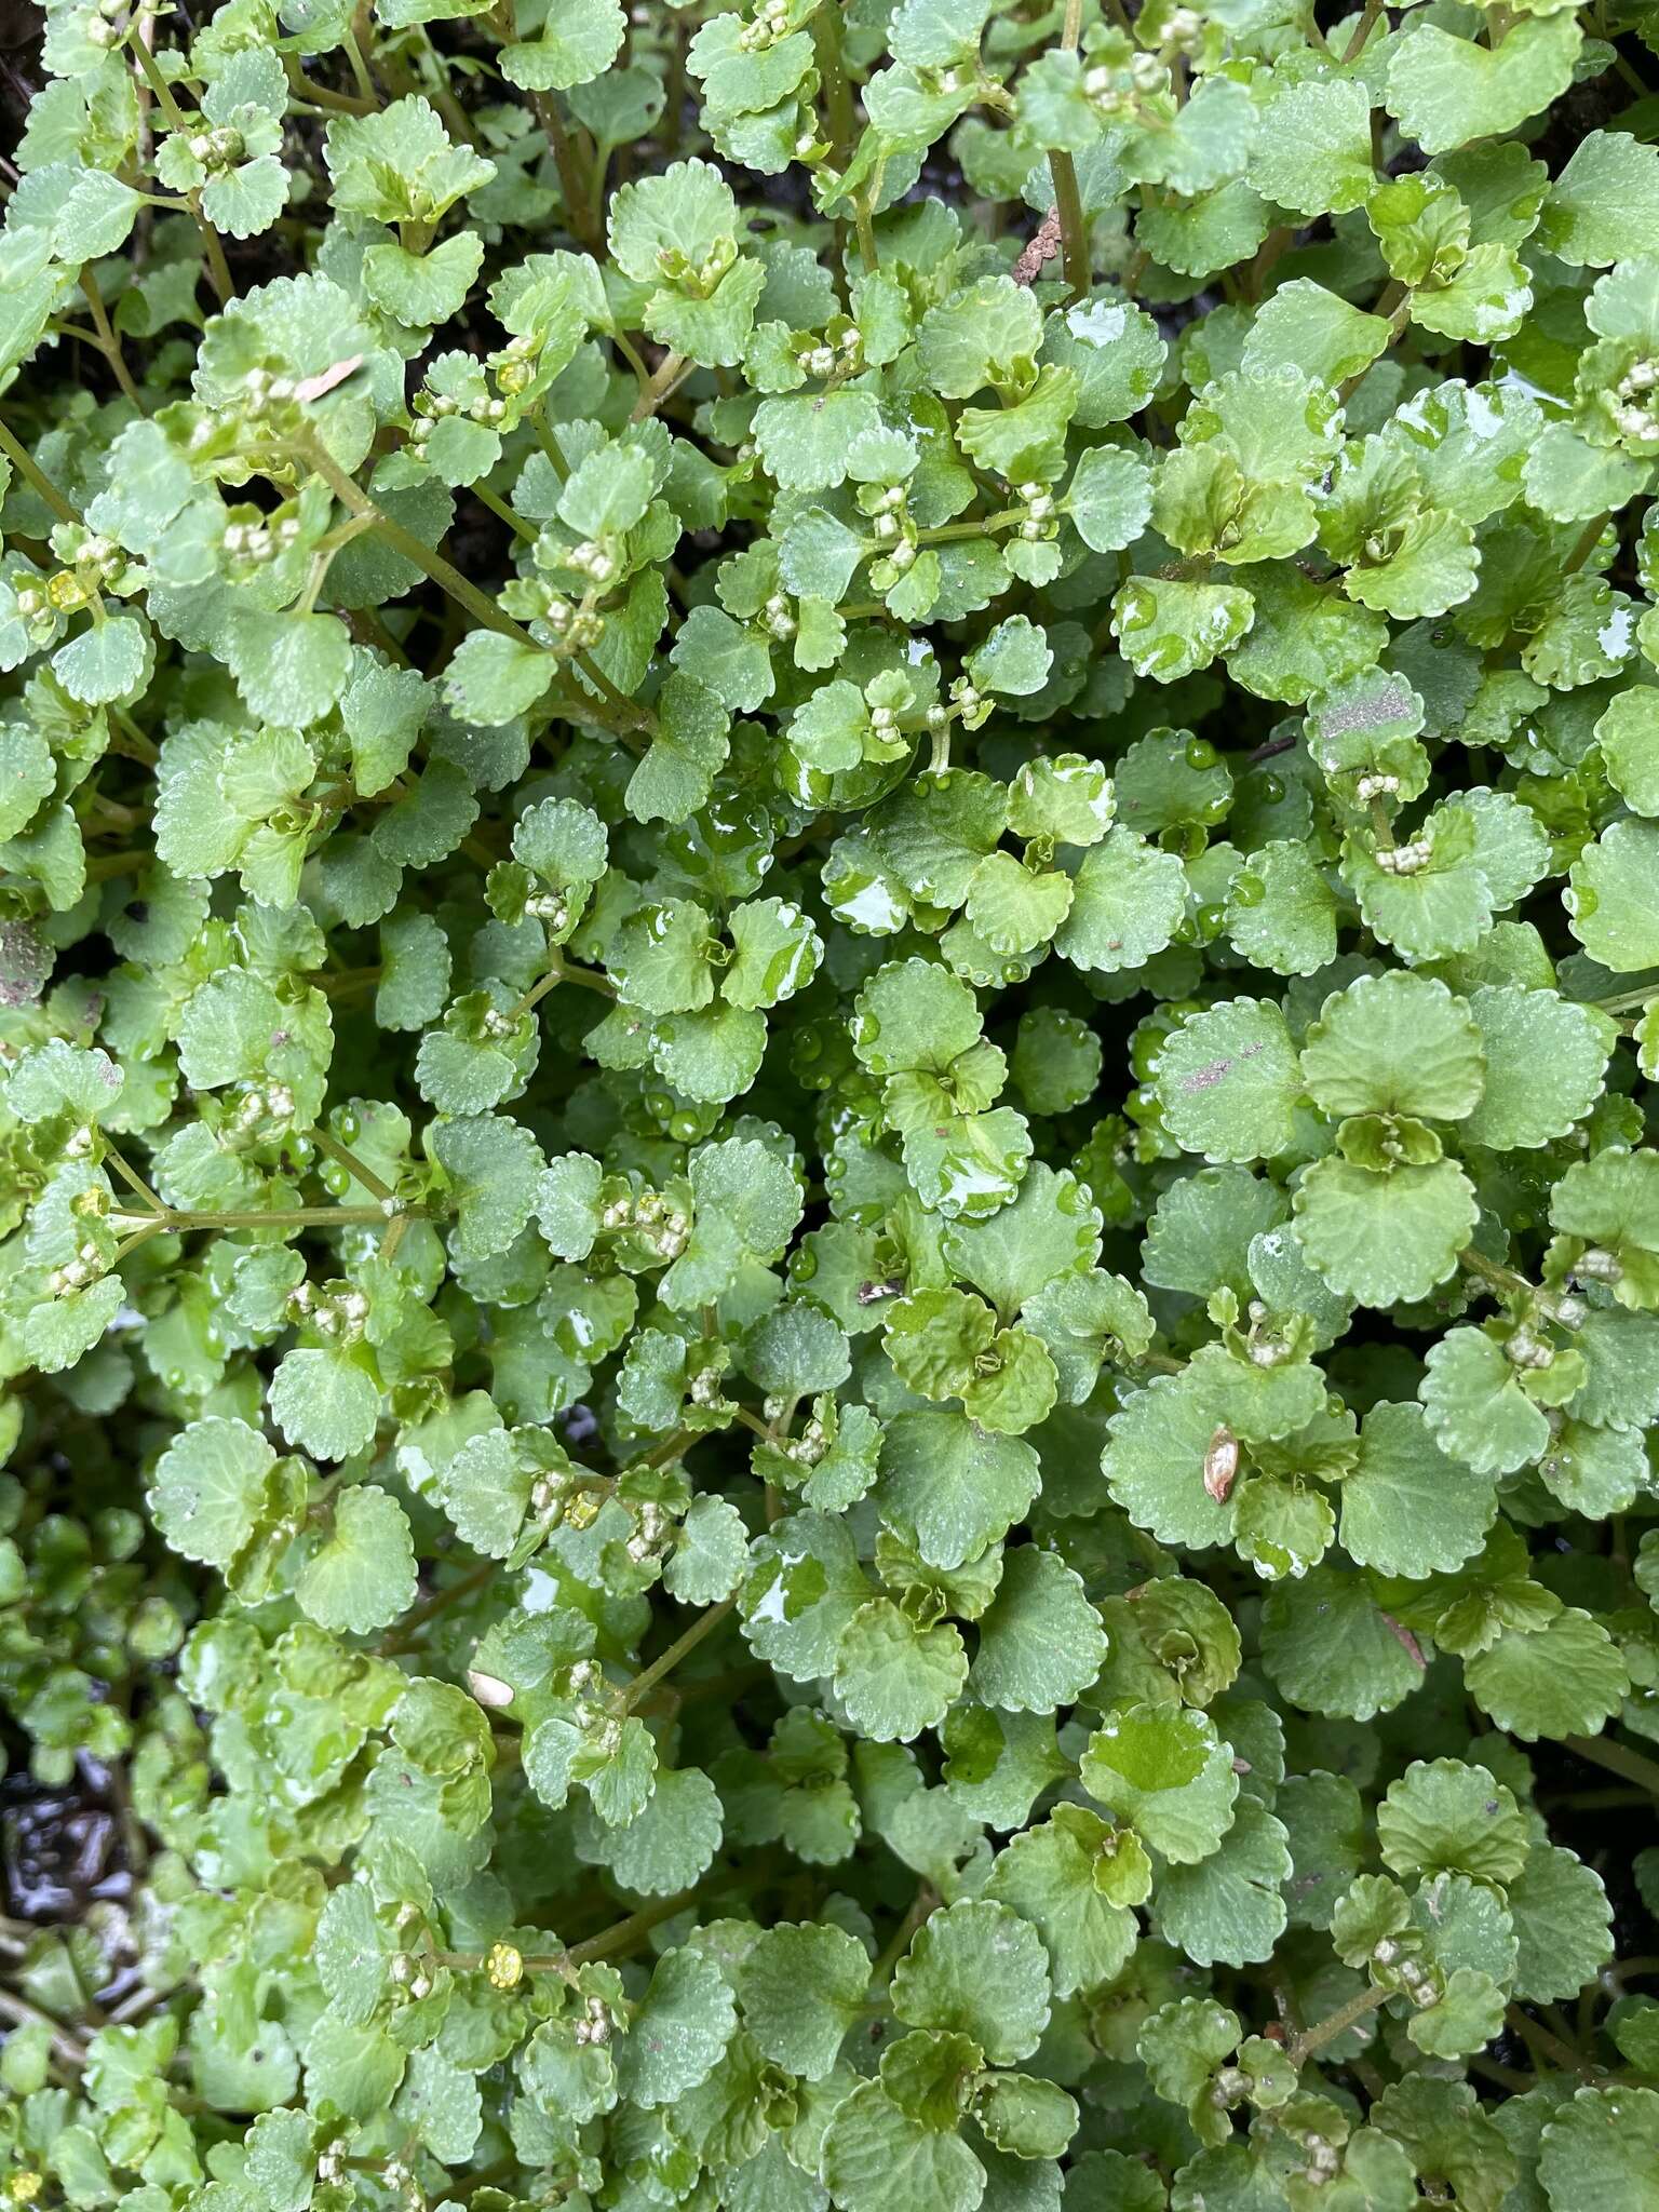
<path id="1" fill-rule="evenodd" d="M 1431 975 L 1389 969 L 1332 993 L 1303 1044 L 1303 1082 L 1329 1115 L 1455 1121 L 1480 1099 L 1482 1035 L 1469 1004 Z"/>

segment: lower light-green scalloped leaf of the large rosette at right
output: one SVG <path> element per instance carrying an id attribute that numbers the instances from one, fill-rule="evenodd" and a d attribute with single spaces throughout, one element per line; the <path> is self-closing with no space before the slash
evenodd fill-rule
<path id="1" fill-rule="evenodd" d="M 1473 1186 L 1451 1159 L 1391 1175 L 1321 1159 L 1292 1203 L 1307 1261 L 1358 1305 L 1427 1298 L 1455 1272 L 1480 1217 Z"/>

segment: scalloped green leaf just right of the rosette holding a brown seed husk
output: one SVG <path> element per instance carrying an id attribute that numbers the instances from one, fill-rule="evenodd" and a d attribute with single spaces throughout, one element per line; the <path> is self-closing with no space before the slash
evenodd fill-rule
<path id="1" fill-rule="evenodd" d="M 1413 1582 L 1473 1557 L 1498 1513 L 1495 1484 L 1449 1460 L 1416 1405 L 1371 1407 L 1340 1500 L 1349 1559 Z"/>

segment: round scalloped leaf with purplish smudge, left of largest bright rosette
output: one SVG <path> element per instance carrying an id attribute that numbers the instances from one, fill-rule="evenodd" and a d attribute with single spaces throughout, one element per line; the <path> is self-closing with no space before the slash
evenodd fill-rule
<path id="1" fill-rule="evenodd" d="M 1230 998 L 1190 1015 L 1159 1053 L 1164 1126 L 1212 1161 L 1283 1152 L 1301 1091 L 1285 1015 L 1267 998 Z"/>

